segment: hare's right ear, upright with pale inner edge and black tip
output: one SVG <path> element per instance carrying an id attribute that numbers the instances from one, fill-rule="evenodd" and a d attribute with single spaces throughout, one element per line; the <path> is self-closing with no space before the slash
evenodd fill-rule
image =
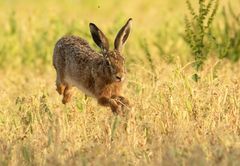
<path id="1" fill-rule="evenodd" d="M 115 49 L 120 52 L 122 51 L 123 46 L 129 36 L 131 24 L 132 24 L 132 18 L 128 19 L 127 23 L 120 29 L 114 41 Z"/>

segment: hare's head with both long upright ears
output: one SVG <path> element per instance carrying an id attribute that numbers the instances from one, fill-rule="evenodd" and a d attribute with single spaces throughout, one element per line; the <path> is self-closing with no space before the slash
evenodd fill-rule
<path id="1" fill-rule="evenodd" d="M 123 46 L 129 36 L 132 19 L 118 32 L 115 41 L 114 49 L 109 50 L 109 43 L 107 37 L 103 32 L 93 23 L 89 24 L 90 31 L 94 42 L 101 48 L 101 53 L 104 57 L 104 73 L 111 81 L 121 82 L 124 79 L 124 57 L 122 55 Z"/>

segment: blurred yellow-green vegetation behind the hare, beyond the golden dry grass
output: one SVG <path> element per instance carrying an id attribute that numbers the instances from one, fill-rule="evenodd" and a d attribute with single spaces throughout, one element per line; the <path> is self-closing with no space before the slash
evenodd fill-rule
<path id="1" fill-rule="evenodd" d="M 222 11 L 225 8 L 228 12 L 229 4 L 238 12 L 237 0 L 221 0 L 213 31 L 226 30 L 221 26 Z M 198 1 L 192 5 L 197 11 Z M 190 13 L 185 1 L 1 0 L 0 10 L 0 69 L 49 67 L 55 42 L 66 34 L 86 38 L 96 48 L 89 33 L 90 22 L 97 24 L 112 44 L 130 17 L 134 21 L 125 49 L 128 64 L 145 64 L 146 52 L 151 54 L 155 65 L 163 61 L 185 64 L 193 59 L 184 41 L 184 20 Z"/>

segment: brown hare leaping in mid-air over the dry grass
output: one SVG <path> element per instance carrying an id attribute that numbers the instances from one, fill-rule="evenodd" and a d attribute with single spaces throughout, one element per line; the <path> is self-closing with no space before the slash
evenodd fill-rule
<path id="1" fill-rule="evenodd" d="M 98 53 L 88 42 L 77 36 L 64 36 L 57 41 L 53 53 L 56 69 L 57 92 L 63 95 L 62 103 L 71 100 L 72 87 L 77 87 L 98 103 L 110 107 L 113 113 L 121 113 L 129 101 L 121 96 L 126 70 L 124 68 L 123 46 L 129 36 L 132 19 L 120 29 L 109 50 L 107 37 L 93 23 L 89 24 L 94 42 L 101 48 Z"/>

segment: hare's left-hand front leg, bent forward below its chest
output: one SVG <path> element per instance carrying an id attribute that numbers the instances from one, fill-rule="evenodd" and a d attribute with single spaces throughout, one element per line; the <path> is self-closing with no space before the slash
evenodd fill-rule
<path id="1" fill-rule="evenodd" d="M 120 113 L 120 106 L 112 98 L 100 97 L 98 98 L 98 103 L 102 106 L 110 107 L 113 113 L 117 113 L 117 114 Z"/>

